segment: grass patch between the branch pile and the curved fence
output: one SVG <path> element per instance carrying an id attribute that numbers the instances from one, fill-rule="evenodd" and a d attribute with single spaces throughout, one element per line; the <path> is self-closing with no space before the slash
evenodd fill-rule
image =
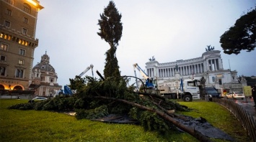
<path id="1" fill-rule="evenodd" d="M 190 115 L 193 118 L 206 118 L 211 125 L 220 128 L 229 136 L 237 141 L 250 141 L 247 132 L 242 127 L 241 123 L 229 113 L 226 108 L 213 102 L 179 102 L 181 105 L 186 105 L 193 108 L 190 112 L 181 112 L 183 115 Z"/>

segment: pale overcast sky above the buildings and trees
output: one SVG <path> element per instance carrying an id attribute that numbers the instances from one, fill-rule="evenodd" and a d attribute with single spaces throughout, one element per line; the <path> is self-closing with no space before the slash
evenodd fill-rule
<path id="1" fill-rule="evenodd" d="M 89 65 L 100 78 L 105 52 L 110 48 L 97 35 L 100 14 L 107 0 L 39 0 L 45 8 L 37 17 L 34 65 L 47 51 L 58 73 L 58 84 L 69 85 Z M 146 69 L 149 58 L 159 63 L 201 57 L 206 46 L 221 51 L 224 69 L 238 75 L 256 76 L 256 51 L 225 55 L 220 37 L 242 14 L 255 7 L 255 0 L 115 0 L 122 14 L 123 36 L 116 52 L 121 75 L 134 76 L 133 64 Z M 92 76 L 89 70 L 85 75 Z M 84 76 L 85 76 L 84 75 Z M 83 77 L 84 77 L 83 76 Z M 141 77 L 138 75 L 137 77 Z M 133 82 L 131 82 L 133 83 Z"/>

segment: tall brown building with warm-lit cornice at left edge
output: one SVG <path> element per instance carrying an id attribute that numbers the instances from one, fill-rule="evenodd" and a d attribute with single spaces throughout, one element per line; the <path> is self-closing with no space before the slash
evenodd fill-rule
<path id="1" fill-rule="evenodd" d="M 28 90 L 32 77 L 37 0 L 0 0 L 0 90 Z"/>

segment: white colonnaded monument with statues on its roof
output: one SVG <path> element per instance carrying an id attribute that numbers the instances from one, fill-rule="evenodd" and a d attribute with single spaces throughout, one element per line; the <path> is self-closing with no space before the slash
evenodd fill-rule
<path id="1" fill-rule="evenodd" d="M 220 53 L 219 50 L 211 49 L 206 50 L 201 57 L 165 63 L 159 63 L 152 57 L 146 62 L 146 72 L 149 77 L 154 77 L 158 86 L 180 87 L 180 79 L 200 80 L 204 77 L 207 86 L 242 90 L 246 80 L 238 80 L 236 70 L 224 69 Z M 178 79 L 175 77 L 176 68 L 180 74 Z"/>

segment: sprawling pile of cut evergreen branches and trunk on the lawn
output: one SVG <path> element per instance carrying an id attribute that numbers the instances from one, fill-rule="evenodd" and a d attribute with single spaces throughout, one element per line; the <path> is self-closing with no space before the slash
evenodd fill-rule
<path id="1" fill-rule="evenodd" d="M 161 134 L 169 133 L 180 128 L 203 141 L 208 141 L 206 136 L 196 132 L 192 128 L 184 126 L 175 118 L 182 118 L 169 110 L 187 111 L 184 106 L 162 98 L 159 95 L 134 92 L 133 87 L 127 87 L 127 80 L 114 81 L 111 77 L 105 80 L 96 80 L 93 77 L 80 77 L 71 80 L 71 83 L 79 85 L 76 94 L 72 96 L 58 96 L 45 101 L 30 103 L 30 105 L 18 104 L 10 108 L 25 110 L 75 110 L 76 118 L 100 118 L 109 114 L 128 114 L 138 120 L 147 131 L 158 131 Z M 31 106 L 32 105 L 32 106 Z"/>

